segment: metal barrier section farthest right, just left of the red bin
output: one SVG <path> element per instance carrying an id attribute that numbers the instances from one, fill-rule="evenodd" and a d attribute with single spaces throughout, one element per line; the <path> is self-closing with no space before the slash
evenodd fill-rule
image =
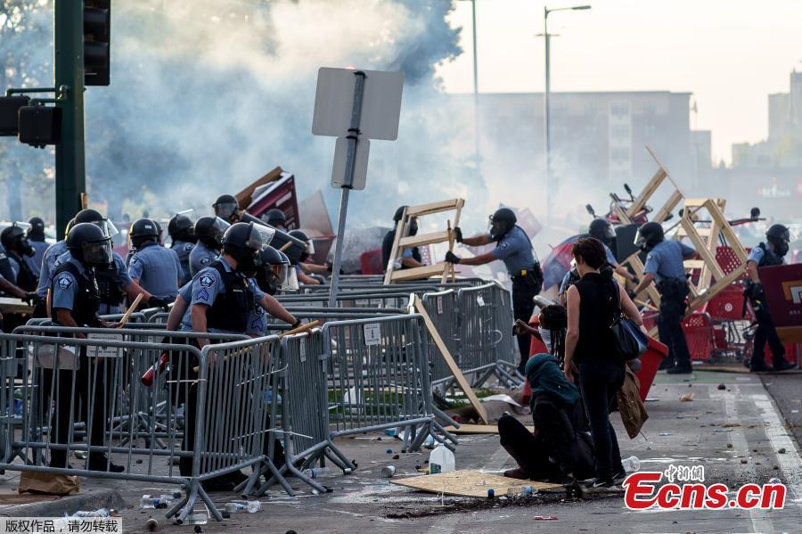
<path id="1" fill-rule="evenodd" d="M 515 369 L 510 293 L 499 283 L 486 283 L 457 292 L 459 310 L 459 366 L 472 374 L 478 387 L 494 375 L 508 386 L 519 383 Z"/>

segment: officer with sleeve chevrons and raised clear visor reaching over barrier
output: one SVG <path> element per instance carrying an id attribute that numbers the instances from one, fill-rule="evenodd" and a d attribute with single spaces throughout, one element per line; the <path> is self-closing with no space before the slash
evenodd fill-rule
<path id="1" fill-rule="evenodd" d="M 236 223 L 225 231 L 223 253 L 192 279 L 192 300 L 181 321 L 181 330 L 196 333 L 250 333 L 253 329 L 249 320 L 257 305 L 293 327 L 300 325 L 300 321 L 277 300 L 261 292 L 252 279 L 260 267 L 259 252 L 269 244 L 273 234 L 272 228 L 253 223 Z M 202 348 L 209 344 L 209 340 L 200 339 L 197 344 Z M 194 420 L 189 415 L 194 413 L 196 395 L 192 386 L 185 412 L 185 450 L 192 450 L 194 446 Z M 182 458 L 179 465 L 182 474 L 191 472 L 191 458 Z M 233 481 L 230 480 L 231 477 L 226 479 L 228 480 L 218 481 L 217 486 L 233 486 L 241 481 L 240 478 L 234 478 Z"/>

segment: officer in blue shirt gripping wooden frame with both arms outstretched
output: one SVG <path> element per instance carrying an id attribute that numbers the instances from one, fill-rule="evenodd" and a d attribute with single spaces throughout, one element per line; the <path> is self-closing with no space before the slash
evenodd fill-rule
<path id="1" fill-rule="evenodd" d="M 463 238 L 462 230 L 454 228 L 456 242 L 462 242 L 471 247 L 495 242 L 495 249 L 487 254 L 466 259 L 461 259 L 453 252 L 448 251 L 446 252 L 446 261 L 462 265 L 484 265 L 501 259 L 512 279 L 512 313 L 516 321 L 528 323 L 535 310 L 533 299 L 543 285 L 543 271 L 535 251 L 532 250 L 529 236 L 523 231 L 523 228 L 515 224 L 516 222 L 518 222 L 518 218 L 511 209 L 501 208 L 496 209 L 495 213 L 490 216 L 491 226 L 488 234 Z M 518 336 L 518 348 L 520 350 L 518 370 L 520 374 L 523 374 L 529 357 L 529 335 L 527 333 Z"/>

